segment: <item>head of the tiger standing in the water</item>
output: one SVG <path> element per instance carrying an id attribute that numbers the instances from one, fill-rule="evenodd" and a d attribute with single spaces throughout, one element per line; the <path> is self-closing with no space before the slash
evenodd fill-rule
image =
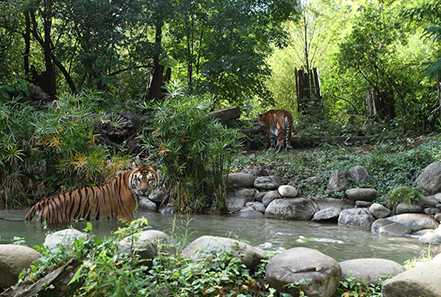
<path id="1" fill-rule="evenodd" d="M 156 186 L 159 177 L 151 166 L 135 166 L 130 174 L 130 188 L 133 194 L 141 198 L 147 198 L 152 188 Z"/>

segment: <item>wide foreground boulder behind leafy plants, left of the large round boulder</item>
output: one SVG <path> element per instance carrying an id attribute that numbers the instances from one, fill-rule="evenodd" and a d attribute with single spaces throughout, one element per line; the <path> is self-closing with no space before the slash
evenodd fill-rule
<path id="1" fill-rule="evenodd" d="M 182 254 L 194 259 L 211 261 L 214 251 L 231 251 L 234 257 L 240 258 L 242 263 L 254 270 L 265 256 L 265 251 L 255 248 L 245 242 L 231 238 L 202 236 L 190 243 Z"/>

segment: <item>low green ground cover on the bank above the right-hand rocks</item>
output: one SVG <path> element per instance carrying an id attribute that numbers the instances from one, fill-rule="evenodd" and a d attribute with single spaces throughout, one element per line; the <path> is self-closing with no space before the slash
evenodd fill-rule
<path id="1" fill-rule="evenodd" d="M 274 154 L 264 151 L 256 154 L 238 154 L 232 164 L 233 170 L 251 170 L 264 166 L 293 184 L 301 195 L 326 196 L 325 189 L 330 175 L 336 169 L 349 170 L 362 165 L 370 175 L 365 187 L 375 188 L 381 202 L 382 196 L 399 185 L 411 185 L 421 171 L 433 161 L 441 160 L 439 139 L 426 141 L 415 148 L 406 141 L 388 142 L 370 146 L 336 146 L 322 143 L 320 147 Z"/>

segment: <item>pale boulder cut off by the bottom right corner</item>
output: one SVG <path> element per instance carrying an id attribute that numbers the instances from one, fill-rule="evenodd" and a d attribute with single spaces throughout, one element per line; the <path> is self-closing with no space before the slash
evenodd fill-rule
<path id="1" fill-rule="evenodd" d="M 441 296 L 441 265 L 437 261 L 420 263 L 388 280 L 381 290 L 383 297 Z"/>

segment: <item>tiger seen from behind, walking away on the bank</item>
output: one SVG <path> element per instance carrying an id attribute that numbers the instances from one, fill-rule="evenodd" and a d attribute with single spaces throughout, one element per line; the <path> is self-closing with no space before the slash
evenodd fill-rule
<path id="1" fill-rule="evenodd" d="M 286 150 L 293 148 L 291 146 L 293 119 L 289 111 L 272 109 L 264 114 L 259 114 L 257 121 L 261 126 L 266 127 L 271 148 L 278 148 L 278 153 L 284 146 Z"/>

